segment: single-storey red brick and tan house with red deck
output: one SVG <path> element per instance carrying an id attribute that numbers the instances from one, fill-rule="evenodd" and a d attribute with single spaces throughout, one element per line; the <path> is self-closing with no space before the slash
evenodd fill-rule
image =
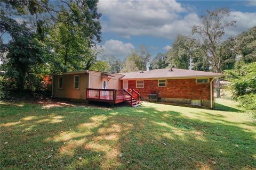
<path id="1" fill-rule="evenodd" d="M 156 69 L 114 74 L 91 70 L 52 74 L 52 97 L 138 105 L 150 94 L 158 101 L 213 108 L 213 80 L 223 74 Z"/>

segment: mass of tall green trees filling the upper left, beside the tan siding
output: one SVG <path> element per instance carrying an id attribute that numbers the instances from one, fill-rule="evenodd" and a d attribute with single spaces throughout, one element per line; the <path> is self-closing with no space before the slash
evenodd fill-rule
<path id="1" fill-rule="evenodd" d="M 106 70 L 92 47 L 101 41 L 98 1 L 1 1 L 1 90 L 44 90 L 51 72 Z M 22 24 L 15 16 L 29 18 Z M 7 33 L 11 40 L 4 44 Z M 103 68 L 104 67 L 104 68 Z M 43 89 L 42 89 L 43 88 Z"/>

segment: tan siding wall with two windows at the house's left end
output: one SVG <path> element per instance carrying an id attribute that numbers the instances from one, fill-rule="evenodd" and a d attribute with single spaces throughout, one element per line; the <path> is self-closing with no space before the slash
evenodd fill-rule
<path id="1" fill-rule="evenodd" d="M 74 89 L 74 75 L 61 75 L 62 89 L 58 88 L 59 75 L 54 75 L 53 97 L 86 99 L 86 88 L 88 87 L 89 76 L 87 73 L 79 75 L 79 89 Z"/>

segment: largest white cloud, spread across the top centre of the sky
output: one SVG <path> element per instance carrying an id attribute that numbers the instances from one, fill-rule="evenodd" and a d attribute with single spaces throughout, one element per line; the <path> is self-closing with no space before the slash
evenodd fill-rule
<path id="1" fill-rule="evenodd" d="M 199 22 L 196 13 L 176 1 L 99 1 L 103 32 L 116 32 L 122 37 L 151 35 L 172 39 L 178 33 L 191 32 Z"/>

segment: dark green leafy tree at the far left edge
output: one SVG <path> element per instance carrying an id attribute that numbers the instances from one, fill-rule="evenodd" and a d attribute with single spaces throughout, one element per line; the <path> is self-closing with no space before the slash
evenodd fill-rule
<path id="1" fill-rule="evenodd" d="M 45 60 L 47 50 L 35 37 L 35 32 L 27 27 L 26 23 L 6 18 L 1 14 L 1 32 L 9 33 L 12 39 L 4 44 L 1 41 L 1 60 L 4 61 L 6 78 L 14 79 L 16 88 L 23 91 L 26 78 L 33 80 L 31 73 L 35 67 L 40 67 Z"/>

